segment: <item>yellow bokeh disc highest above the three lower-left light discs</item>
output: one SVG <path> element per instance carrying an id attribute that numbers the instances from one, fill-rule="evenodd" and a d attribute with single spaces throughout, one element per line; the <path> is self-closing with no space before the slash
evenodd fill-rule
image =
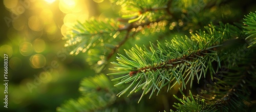
<path id="1" fill-rule="evenodd" d="M 33 31 L 40 31 L 43 28 L 42 21 L 37 16 L 31 16 L 29 17 L 29 28 Z"/>

